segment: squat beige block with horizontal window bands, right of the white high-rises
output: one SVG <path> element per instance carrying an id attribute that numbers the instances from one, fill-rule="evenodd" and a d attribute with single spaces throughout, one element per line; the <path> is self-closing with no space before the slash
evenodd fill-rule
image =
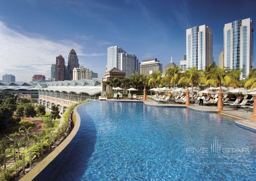
<path id="1" fill-rule="evenodd" d="M 140 63 L 140 74 L 148 76 L 149 74 L 152 74 L 154 71 L 160 71 L 162 72 L 163 64 L 160 63 L 157 58 L 151 58 L 147 60 L 143 60 Z"/>

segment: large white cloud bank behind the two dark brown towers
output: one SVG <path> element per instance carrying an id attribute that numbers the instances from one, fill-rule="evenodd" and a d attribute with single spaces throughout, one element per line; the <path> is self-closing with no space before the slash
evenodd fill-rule
<path id="1" fill-rule="evenodd" d="M 30 81 L 34 74 L 50 77 L 50 66 L 56 56 L 62 54 L 67 64 L 71 49 L 81 56 L 105 55 L 84 53 L 82 45 L 70 40 L 51 41 L 44 36 L 21 34 L 0 21 L 0 72 L 14 74 L 17 81 Z"/>

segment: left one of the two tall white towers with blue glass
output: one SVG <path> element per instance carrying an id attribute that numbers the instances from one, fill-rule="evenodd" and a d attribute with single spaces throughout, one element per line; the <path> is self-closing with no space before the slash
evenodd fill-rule
<path id="1" fill-rule="evenodd" d="M 204 69 L 212 64 L 212 28 L 201 25 L 186 30 L 187 68 Z"/>

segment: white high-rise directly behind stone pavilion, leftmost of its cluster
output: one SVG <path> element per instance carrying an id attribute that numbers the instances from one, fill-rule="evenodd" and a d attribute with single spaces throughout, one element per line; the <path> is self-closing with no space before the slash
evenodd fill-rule
<path id="1" fill-rule="evenodd" d="M 117 68 L 121 70 L 121 62 L 118 61 L 118 53 L 126 53 L 119 46 L 110 46 L 107 47 L 107 66 L 106 71 L 110 69 Z"/>

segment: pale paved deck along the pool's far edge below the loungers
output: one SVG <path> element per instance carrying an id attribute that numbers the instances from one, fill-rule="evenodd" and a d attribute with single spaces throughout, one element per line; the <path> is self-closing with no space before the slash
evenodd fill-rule
<path id="1" fill-rule="evenodd" d="M 230 116 L 235 120 L 235 123 L 242 126 L 253 129 L 256 131 L 256 121 L 250 120 L 252 117 L 252 111 L 245 111 L 245 109 L 238 109 L 238 108 L 229 108 L 223 107 L 224 111 L 216 111 L 217 106 L 200 106 L 198 104 L 194 104 L 191 106 L 186 106 L 186 104 L 164 104 L 164 103 L 157 103 L 151 99 L 147 99 L 147 101 L 142 100 L 130 100 L 130 99 L 108 99 L 107 101 L 120 101 L 120 102 L 143 102 L 145 105 L 148 106 L 155 106 L 155 107 L 184 107 L 188 109 L 193 109 L 195 111 L 204 111 L 204 112 L 212 112 L 212 113 L 220 113 L 222 115 Z"/>

